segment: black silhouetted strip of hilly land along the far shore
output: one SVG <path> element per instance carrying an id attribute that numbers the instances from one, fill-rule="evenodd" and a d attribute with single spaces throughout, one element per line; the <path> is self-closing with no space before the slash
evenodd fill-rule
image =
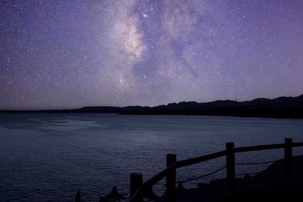
<path id="1" fill-rule="evenodd" d="M 206 115 L 266 118 L 303 118 L 303 94 L 298 97 L 258 98 L 237 102 L 180 102 L 157 107 L 84 107 L 63 110 L 2 110 L 0 112 L 119 113 L 132 115 Z"/>

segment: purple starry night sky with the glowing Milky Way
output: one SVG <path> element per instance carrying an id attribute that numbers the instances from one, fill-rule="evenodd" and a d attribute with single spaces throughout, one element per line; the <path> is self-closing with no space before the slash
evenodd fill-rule
<path id="1" fill-rule="evenodd" d="M 0 109 L 302 93 L 302 0 L 0 0 Z"/>

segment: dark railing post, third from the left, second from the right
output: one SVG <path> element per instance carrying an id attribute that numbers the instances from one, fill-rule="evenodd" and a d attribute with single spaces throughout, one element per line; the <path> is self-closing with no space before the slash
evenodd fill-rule
<path id="1" fill-rule="evenodd" d="M 226 143 L 226 179 L 227 188 L 234 189 L 235 186 L 235 152 L 234 142 Z"/>

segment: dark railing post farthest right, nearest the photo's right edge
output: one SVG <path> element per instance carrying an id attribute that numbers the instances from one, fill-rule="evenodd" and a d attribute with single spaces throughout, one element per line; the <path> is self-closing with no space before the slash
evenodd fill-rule
<path id="1" fill-rule="evenodd" d="M 292 139 L 286 138 L 284 142 L 284 176 L 290 179 L 292 177 Z"/>

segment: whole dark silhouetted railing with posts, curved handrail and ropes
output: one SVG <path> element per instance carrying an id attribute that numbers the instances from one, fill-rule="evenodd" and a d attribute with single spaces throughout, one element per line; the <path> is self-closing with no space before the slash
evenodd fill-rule
<path id="1" fill-rule="evenodd" d="M 293 147 L 302 147 L 303 142 L 295 142 L 292 143 L 292 139 L 286 138 L 285 142 L 283 144 L 269 144 L 269 145 L 258 145 L 258 146 L 249 146 L 249 147 L 238 147 L 234 148 L 233 142 L 227 142 L 226 143 L 226 150 L 213 153 L 210 155 L 203 155 L 195 158 L 190 158 L 182 161 L 176 160 L 176 155 L 168 154 L 167 155 L 167 167 L 154 175 L 151 179 L 147 180 L 142 184 L 142 174 L 140 175 L 140 180 L 135 180 L 134 175 L 138 175 L 137 173 L 131 174 L 131 180 L 130 180 L 130 196 L 126 199 L 125 202 L 143 202 L 143 194 L 147 190 L 150 190 L 152 186 L 154 186 L 156 183 L 158 183 L 160 180 L 162 180 L 164 177 L 166 177 L 166 193 L 165 197 L 166 199 L 169 199 L 170 202 L 175 202 L 176 196 L 176 170 L 177 168 L 194 165 L 197 163 L 201 163 L 204 161 L 208 161 L 211 159 L 219 158 L 222 156 L 226 156 L 226 166 L 223 167 L 220 170 L 223 170 L 226 168 L 226 183 L 227 183 L 227 189 L 234 189 L 235 188 L 235 165 L 252 165 L 251 163 L 235 163 L 235 154 L 236 153 L 242 153 L 242 152 L 252 152 L 252 151 L 260 151 L 260 150 L 271 150 L 271 149 L 281 149 L 284 148 L 284 176 L 285 178 L 291 178 L 292 177 L 292 148 Z M 262 163 L 254 163 L 254 164 L 265 164 L 265 163 L 272 163 L 275 161 L 268 161 L 268 162 L 262 162 Z M 215 172 L 211 172 L 208 175 L 211 175 Z M 245 173 L 246 174 L 246 173 Z M 245 174 L 237 174 L 237 175 L 245 175 Z M 252 173 L 254 174 L 254 173 Z M 256 173 L 257 174 L 257 173 Z M 183 180 L 179 182 L 187 182 L 190 180 L 200 179 L 205 177 L 205 175 L 192 178 L 188 180 Z"/>

